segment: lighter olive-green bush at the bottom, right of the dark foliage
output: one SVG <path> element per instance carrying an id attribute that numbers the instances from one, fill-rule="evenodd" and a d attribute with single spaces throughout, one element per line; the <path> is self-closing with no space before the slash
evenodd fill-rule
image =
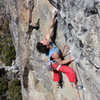
<path id="1" fill-rule="evenodd" d="M 10 100 L 22 100 L 21 83 L 19 80 L 12 80 L 8 85 Z"/>

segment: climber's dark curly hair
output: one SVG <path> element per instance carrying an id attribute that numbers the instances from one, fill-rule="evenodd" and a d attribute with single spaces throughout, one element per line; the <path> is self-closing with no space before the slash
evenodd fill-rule
<path id="1" fill-rule="evenodd" d="M 43 45 L 40 42 L 37 43 L 36 48 L 37 48 L 37 51 L 39 51 L 40 53 L 47 54 L 49 52 L 49 48 L 47 48 L 46 45 Z"/>

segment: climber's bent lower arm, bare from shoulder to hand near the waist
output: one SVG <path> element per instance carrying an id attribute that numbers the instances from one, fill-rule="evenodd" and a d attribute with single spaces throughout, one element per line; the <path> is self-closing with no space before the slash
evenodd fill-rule
<path id="1" fill-rule="evenodd" d="M 58 53 L 54 53 L 54 54 L 52 55 L 52 58 L 53 58 L 56 62 L 58 62 L 59 64 L 61 64 L 61 65 L 63 65 L 63 64 L 69 64 L 69 63 L 71 63 L 72 61 L 74 61 L 73 59 L 71 59 L 71 60 L 69 60 L 69 59 L 62 60 L 62 59 L 60 58 L 60 56 L 59 56 Z"/>

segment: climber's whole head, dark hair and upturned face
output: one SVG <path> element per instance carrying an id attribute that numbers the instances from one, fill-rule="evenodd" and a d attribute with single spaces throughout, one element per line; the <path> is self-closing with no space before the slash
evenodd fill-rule
<path id="1" fill-rule="evenodd" d="M 45 54 L 47 54 L 50 50 L 49 44 L 46 41 L 38 42 L 36 48 L 40 53 L 45 53 Z"/>

